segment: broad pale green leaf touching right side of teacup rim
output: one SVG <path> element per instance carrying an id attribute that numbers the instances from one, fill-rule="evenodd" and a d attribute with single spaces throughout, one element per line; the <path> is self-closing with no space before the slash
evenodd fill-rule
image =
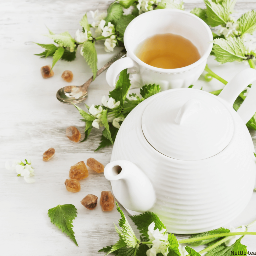
<path id="1" fill-rule="evenodd" d="M 213 40 L 213 52 L 215 60 L 220 63 L 246 60 L 246 48 L 243 40 L 235 37 L 227 39 L 217 38 Z"/>

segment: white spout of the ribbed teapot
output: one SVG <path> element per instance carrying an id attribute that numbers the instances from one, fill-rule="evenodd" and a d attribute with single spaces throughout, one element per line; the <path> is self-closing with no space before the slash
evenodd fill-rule
<path id="1" fill-rule="evenodd" d="M 156 194 L 151 181 L 132 162 L 113 161 L 106 165 L 104 175 L 111 181 L 115 198 L 126 209 L 145 212 L 155 204 Z"/>

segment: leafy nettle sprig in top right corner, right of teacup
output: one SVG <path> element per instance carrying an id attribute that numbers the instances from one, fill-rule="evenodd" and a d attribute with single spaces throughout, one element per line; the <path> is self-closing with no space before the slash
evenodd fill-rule
<path id="1" fill-rule="evenodd" d="M 256 30 L 256 12 L 243 14 L 234 20 L 236 0 L 204 0 L 205 9 L 194 8 L 191 13 L 204 20 L 212 29 L 215 60 L 220 63 L 248 61 L 255 68 L 256 39 L 252 36 Z"/>

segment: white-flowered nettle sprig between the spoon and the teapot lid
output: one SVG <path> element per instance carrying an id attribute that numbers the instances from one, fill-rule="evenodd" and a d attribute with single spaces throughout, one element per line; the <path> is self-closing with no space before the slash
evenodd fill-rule
<path id="1" fill-rule="evenodd" d="M 95 150 L 99 150 L 105 146 L 110 146 L 114 143 L 118 129 L 121 123 L 127 117 L 127 115 L 143 100 L 158 93 L 160 91 L 159 85 L 144 85 L 140 89 L 140 96 L 137 94 L 127 95 L 131 87 L 129 74 L 127 69 L 121 71 L 119 80 L 117 81 L 116 88 L 109 92 L 109 100 L 106 97 L 102 97 L 102 105 L 94 104 L 89 107 L 85 104 L 88 109 L 88 113 L 78 106 L 74 105 L 80 115 L 81 119 L 85 122 L 85 141 L 93 128 L 99 129 L 104 127 L 101 136 L 101 142 L 99 147 Z M 81 141 L 81 142 L 82 142 Z"/>

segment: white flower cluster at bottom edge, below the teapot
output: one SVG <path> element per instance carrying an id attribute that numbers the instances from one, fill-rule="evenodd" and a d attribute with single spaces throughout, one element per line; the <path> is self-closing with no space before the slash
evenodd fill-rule
<path id="1" fill-rule="evenodd" d="M 157 253 L 162 253 L 164 256 L 168 254 L 168 234 L 163 234 L 166 230 L 159 229 L 154 230 L 155 223 L 152 222 L 148 226 L 148 238 L 152 241 L 153 246 L 147 250 L 147 256 L 156 256 Z"/>

